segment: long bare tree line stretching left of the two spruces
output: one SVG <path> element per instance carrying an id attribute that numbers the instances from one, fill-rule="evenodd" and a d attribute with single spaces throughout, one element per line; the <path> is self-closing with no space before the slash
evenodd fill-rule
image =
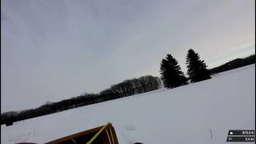
<path id="1" fill-rule="evenodd" d="M 98 102 L 105 102 L 116 98 L 123 98 L 134 94 L 142 94 L 161 87 L 161 79 L 150 75 L 140 78 L 128 79 L 109 89 L 102 90 L 98 94 L 82 94 L 78 97 L 69 98 L 60 102 L 46 102 L 35 109 L 10 111 L 1 114 L 1 125 L 12 125 L 13 122 L 35 118 L 38 116 L 69 110 L 79 106 L 86 106 Z"/>

